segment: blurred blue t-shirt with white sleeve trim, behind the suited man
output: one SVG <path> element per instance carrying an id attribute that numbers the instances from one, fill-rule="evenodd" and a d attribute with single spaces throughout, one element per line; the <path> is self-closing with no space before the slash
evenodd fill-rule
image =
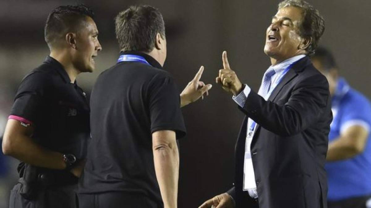
<path id="1" fill-rule="evenodd" d="M 338 201 L 371 194 L 371 104 L 358 91 L 349 87 L 344 78 L 332 98 L 332 113 L 329 143 L 338 138 L 349 126 L 361 125 L 369 132 L 364 151 L 353 158 L 328 162 L 328 200 Z"/>

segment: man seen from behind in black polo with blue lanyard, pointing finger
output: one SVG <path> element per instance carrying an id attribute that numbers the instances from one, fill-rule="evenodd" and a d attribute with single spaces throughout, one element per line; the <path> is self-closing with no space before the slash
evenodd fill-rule
<path id="1" fill-rule="evenodd" d="M 211 85 L 203 67 L 179 96 L 166 58 L 164 21 L 151 6 L 132 6 L 115 19 L 118 63 L 104 71 L 91 97 L 92 141 L 80 180 L 82 208 L 176 208 L 184 137 L 180 107 Z"/>

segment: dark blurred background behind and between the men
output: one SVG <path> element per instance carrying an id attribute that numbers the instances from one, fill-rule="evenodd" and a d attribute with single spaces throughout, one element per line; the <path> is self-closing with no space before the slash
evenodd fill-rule
<path id="1" fill-rule="evenodd" d="M 181 164 L 178 203 L 198 207 L 204 200 L 232 186 L 234 143 L 243 114 L 231 95 L 216 85 L 228 51 L 233 70 L 253 90 L 259 88 L 269 58 L 263 53 L 265 31 L 275 15 L 278 0 L 1 0 L 0 1 L 0 137 L 13 96 L 22 78 L 49 54 L 44 41 L 47 14 L 61 4 L 84 3 L 96 14 L 103 50 L 97 70 L 81 74 L 78 83 L 89 92 L 96 77 L 115 64 L 118 44 L 113 19 L 133 4 L 160 9 L 166 23 L 168 56 L 164 68 L 174 75 L 179 89 L 203 65 L 202 80 L 213 84 L 210 95 L 183 109 L 188 135 L 180 141 Z M 321 45 L 334 52 L 341 74 L 368 97 L 370 90 L 371 1 L 308 0 L 325 17 Z M 17 179 L 16 161 L 0 153 L 0 208 Z"/>

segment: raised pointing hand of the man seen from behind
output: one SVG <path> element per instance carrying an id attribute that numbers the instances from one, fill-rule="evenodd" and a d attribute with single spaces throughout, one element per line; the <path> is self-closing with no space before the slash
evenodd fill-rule
<path id="1" fill-rule="evenodd" d="M 204 67 L 201 66 L 196 76 L 194 76 L 194 78 L 187 84 L 183 92 L 180 94 L 180 107 L 193 103 L 200 97 L 203 99 L 205 93 L 206 95 L 209 95 L 209 90 L 211 89 L 212 85 L 205 85 L 203 81 L 200 81 L 203 72 Z"/>

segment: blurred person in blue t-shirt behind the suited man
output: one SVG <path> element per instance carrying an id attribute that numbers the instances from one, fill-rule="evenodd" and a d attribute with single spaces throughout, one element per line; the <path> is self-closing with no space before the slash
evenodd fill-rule
<path id="1" fill-rule="evenodd" d="M 328 80 L 334 115 L 326 158 L 328 207 L 366 208 L 371 198 L 371 103 L 340 76 L 329 50 L 319 47 L 312 62 Z"/>

